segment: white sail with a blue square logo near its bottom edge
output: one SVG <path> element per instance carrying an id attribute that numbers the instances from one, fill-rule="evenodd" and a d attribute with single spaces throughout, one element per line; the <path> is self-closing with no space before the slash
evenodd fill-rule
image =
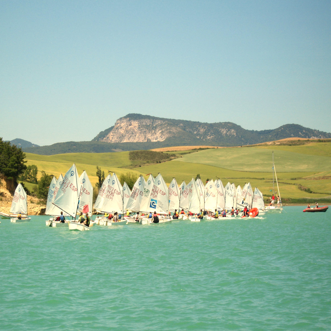
<path id="1" fill-rule="evenodd" d="M 142 211 L 156 211 L 157 213 L 166 215 L 169 213 L 168 188 L 160 173 L 154 180 L 148 203 Z"/>

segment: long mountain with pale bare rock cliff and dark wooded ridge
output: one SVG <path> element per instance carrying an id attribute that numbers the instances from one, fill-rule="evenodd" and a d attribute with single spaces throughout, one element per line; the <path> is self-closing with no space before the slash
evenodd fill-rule
<path id="1" fill-rule="evenodd" d="M 286 124 L 271 130 L 246 130 L 231 122 L 201 123 L 128 114 L 100 132 L 92 141 L 108 143 L 169 142 L 177 145 L 241 146 L 290 137 L 327 139 L 331 133 Z"/>

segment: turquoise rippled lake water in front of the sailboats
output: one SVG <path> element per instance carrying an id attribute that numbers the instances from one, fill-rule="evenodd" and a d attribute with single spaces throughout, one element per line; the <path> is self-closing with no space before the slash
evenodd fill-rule
<path id="1" fill-rule="evenodd" d="M 326 213 L 0 224 L 1 330 L 330 330 Z"/>

